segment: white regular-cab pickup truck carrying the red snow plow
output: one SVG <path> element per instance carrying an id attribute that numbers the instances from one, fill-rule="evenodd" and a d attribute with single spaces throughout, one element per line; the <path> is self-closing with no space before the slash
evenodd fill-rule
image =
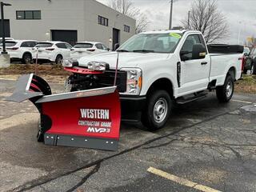
<path id="1" fill-rule="evenodd" d="M 139 119 L 156 130 L 166 124 L 174 103 L 203 98 L 205 90 L 216 90 L 220 102 L 230 101 L 234 81 L 242 74 L 242 53 L 222 54 L 221 50 L 209 53 L 202 33 L 193 30 L 136 34 L 115 52 L 78 60 L 78 67 L 94 62 L 107 64 L 109 69 L 95 78 L 73 74 L 69 86 L 84 90 L 110 85 L 118 57 L 122 120 Z M 88 79 L 94 80 L 88 83 Z"/>

